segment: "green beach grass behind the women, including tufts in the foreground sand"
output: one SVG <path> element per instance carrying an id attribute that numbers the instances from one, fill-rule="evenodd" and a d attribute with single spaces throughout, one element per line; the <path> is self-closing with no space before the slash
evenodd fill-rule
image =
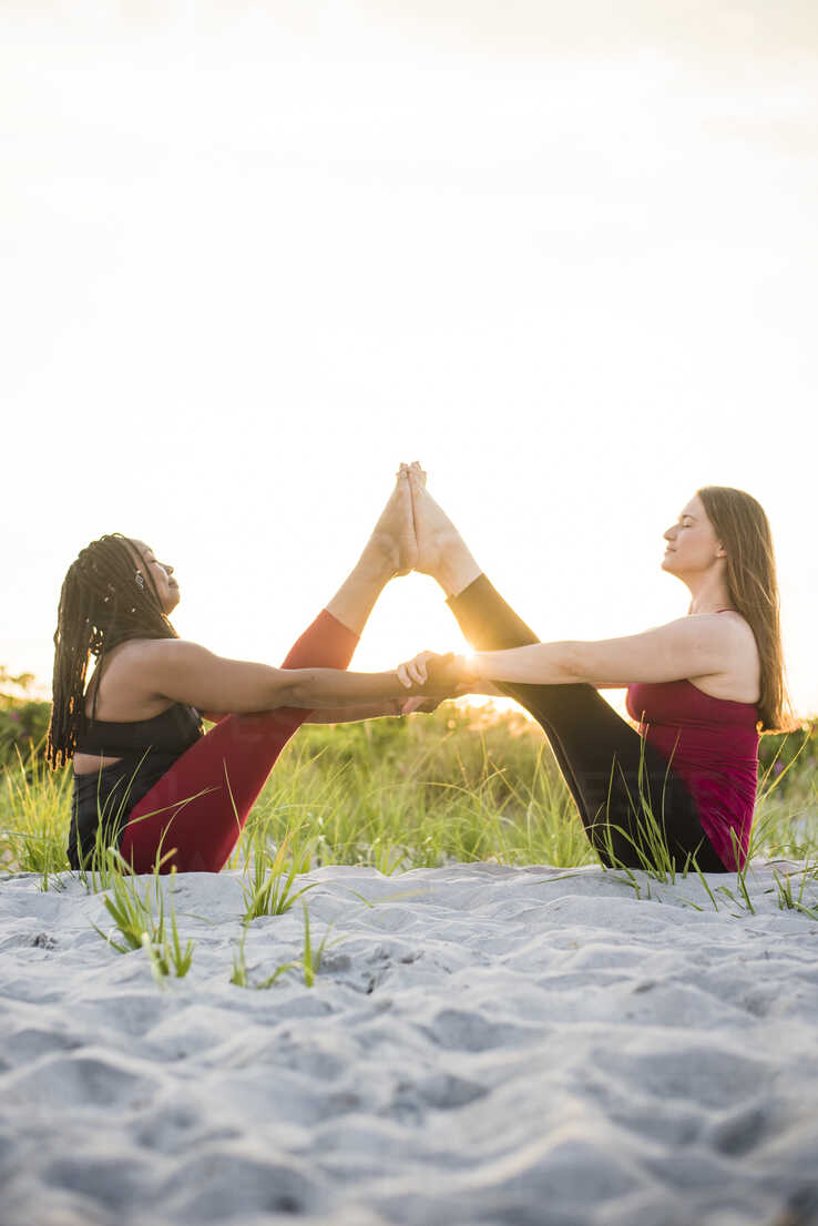
<path id="1" fill-rule="evenodd" d="M 786 750 L 786 742 L 765 755 L 749 856 L 724 884 L 709 884 L 695 857 L 681 873 L 675 867 L 665 839 L 663 798 L 648 794 L 641 775 L 632 797 L 640 814 L 634 847 L 641 872 L 617 861 L 610 837 L 608 864 L 602 867 L 636 899 L 651 899 L 657 884 L 673 884 L 677 877 L 698 877 L 715 911 L 741 917 L 754 911 L 747 885 L 753 859 L 780 858 L 787 863 L 773 874 L 779 907 L 818 921 L 814 736 L 811 729 L 781 766 L 778 750 Z M 0 875 L 36 873 L 43 890 L 65 889 L 71 771 L 52 771 L 39 749 L 17 753 L 0 774 Z M 94 850 L 77 873 L 88 893 L 104 895 L 114 924 L 108 933 L 93 927 L 120 954 L 141 950 L 157 986 L 166 987 L 188 973 L 194 958 L 191 940 L 183 948 L 172 902 L 175 869 L 169 878 L 159 872 L 172 851 L 159 853 L 145 885 L 120 852 L 107 846 L 104 818 Z M 516 711 L 461 702 L 444 704 L 427 717 L 304 726 L 271 772 L 228 861 L 228 868 L 240 873 L 244 894 L 231 982 L 265 989 L 293 971 L 314 987 L 331 926 L 316 946 L 305 899 L 315 885 L 300 884 L 313 868 L 358 864 L 392 875 L 477 861 L 551 864 L 568 869 L 565 877 L 601 864 L 541 729 Z M 244 956 L 249 926 L 261 916 L 283 915 L 299 900 L 300 959 L 277 965 L 256 982 Z M 693 899 L 681 901 L 703 910 Z"/>

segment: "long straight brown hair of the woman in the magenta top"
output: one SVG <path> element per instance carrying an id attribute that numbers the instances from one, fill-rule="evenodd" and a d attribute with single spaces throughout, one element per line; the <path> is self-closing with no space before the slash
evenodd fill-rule
<path id="1" fill-rule="evenodd" d="M 743 489 L 705 485 L 697 494 L 727 554 L 730 600 L 755 635 L 762 664 L 759 729 L 790 732 L 798 725 L 792 717 L 786 688 L 779 586 L 769 521 L 760 503 Z"/>

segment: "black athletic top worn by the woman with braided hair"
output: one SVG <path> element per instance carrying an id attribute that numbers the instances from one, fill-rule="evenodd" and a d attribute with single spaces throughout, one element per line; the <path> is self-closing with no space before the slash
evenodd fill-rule
<path id="1" fill-rule="evenodd" d="M 76 753 L 121 760 L 74 775 L 67 846 L 71 868 L 88 863 L 101 823 L 104 845 L 119 847 L 131 809 L 201 736 L 201 715 L 184 702 L 174 702 L 151 720 L 83 718 Z"/>

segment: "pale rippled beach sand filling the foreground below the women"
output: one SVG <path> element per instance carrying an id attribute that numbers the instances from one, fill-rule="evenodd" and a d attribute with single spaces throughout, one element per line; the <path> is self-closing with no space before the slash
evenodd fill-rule
<path id="1" fill-rule="evenodd" d="M 269 991 L 229 982 L 238 873 L 178 878 L 166 991 L 102 896 L 6 880 L 2 1226 L 818 1221 L 818 922 L 766 863 L 755 915 L 617 875 L 324 868 L 313 937 L 345 940 Z M 299 904 L 256 920 L 251 978 L 302 938 Z"/>

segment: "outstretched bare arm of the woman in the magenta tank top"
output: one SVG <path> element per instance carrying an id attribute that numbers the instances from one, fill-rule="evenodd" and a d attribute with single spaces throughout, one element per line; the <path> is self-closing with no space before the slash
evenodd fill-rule
<path id="1" fill-rule="evenodd" d="M 735 646 L 733 629 L 724 619 L 697 614 L 623 639 L 482 651 L 465 667 L 470 687 L 484 680 L 533 685 L 580 682 L 605 689 L 724 673 L 731 667 Z"/>

